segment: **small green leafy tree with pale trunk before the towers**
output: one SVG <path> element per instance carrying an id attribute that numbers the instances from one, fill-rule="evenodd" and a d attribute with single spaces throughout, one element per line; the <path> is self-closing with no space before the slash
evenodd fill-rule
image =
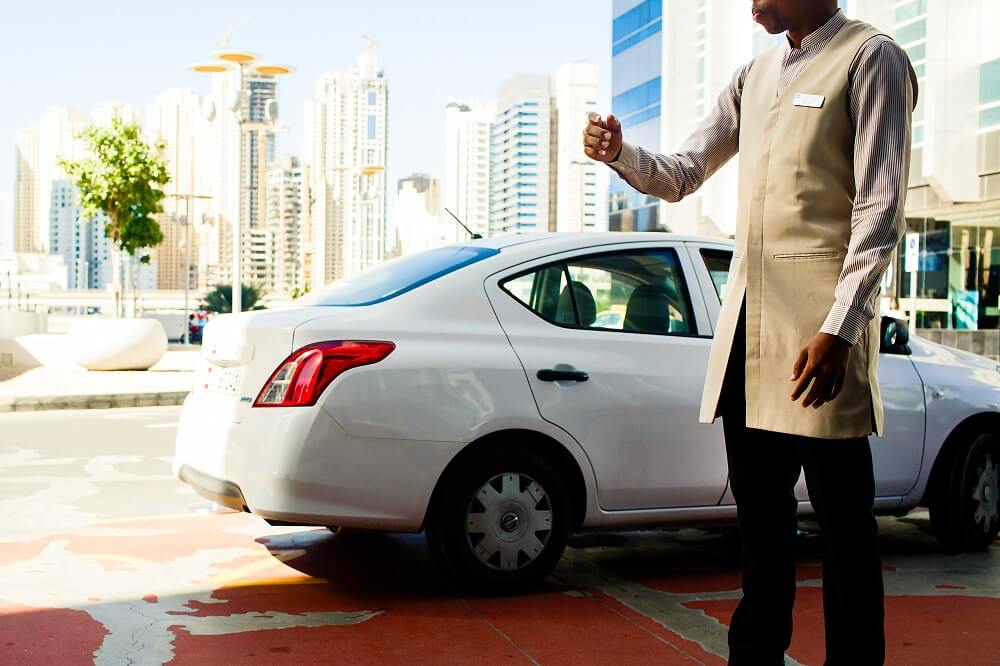
<path id="1" fill-rule="evenodd" d="M 163 141 L 152 146 L 142 138 L 134 123 L 115 118 L 110 125 L 91 124 L 80 134 L 89 156 L 79 161 L 60 160 L 66 173 L 80 190 L 83 215 L 107 216 L 104 235 L 118 252 L 114 261 L 115 314 L 124 315 L 125 254 L 134 257 L 143 248 L 163 241 L 160 225 L 154 219 L 163 211 L 163 185 L 170 182 L 162 152 Z M 142 263 L 149 261 L 142 253 Z"/>

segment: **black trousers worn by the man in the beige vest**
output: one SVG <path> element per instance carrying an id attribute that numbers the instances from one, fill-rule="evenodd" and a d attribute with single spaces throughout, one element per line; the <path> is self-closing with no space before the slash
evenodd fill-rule
<path id="1" fill-rule="evenodd" d="M 881 664 L 882 566 L 868 438 L 817 439 L 747 428 L 745 327 L 744 301 L 720 398 L 743 544 L 743 598 L 729 627 L 729 663 L 784 663 L 795 601 L 794 489 L 804 469 L 823 535 L 826 663 Z M 791 394 L 792 382 L 769 390 Z M 803 409 L 801 400 L 789 400 L 788 408 Z"/>

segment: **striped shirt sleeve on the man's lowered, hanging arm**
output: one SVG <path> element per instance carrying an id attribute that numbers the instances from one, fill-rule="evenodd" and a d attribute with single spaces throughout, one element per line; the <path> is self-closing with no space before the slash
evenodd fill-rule
<path id="1" fill-rule="evenodd" d="M 851 238 L 823 333 L 856 343 L 875 317 L 879 283 L 906 227 L 903 205 L 910 164 L 916 82 L 906 52 L 873 38 L 852 67 L 855 197 Z"/>

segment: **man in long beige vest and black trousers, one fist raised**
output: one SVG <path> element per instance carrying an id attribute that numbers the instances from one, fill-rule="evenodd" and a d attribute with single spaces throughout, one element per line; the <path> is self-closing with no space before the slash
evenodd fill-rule
<path id="1" fill-rule="evenodd" d="M 730 663 L 781 664 L 791 642 L 803 468 L 825 544 L 827 663 L 882 663 L 875 314 L 905 226 L 916 77 L 895 42 L 834 0 L 754 0 L 752 15 L 786 39 L 736 72 L 678 152 L 623 143 L 618 119 L 597 114 L 584 151 L 667 201 L 740 152 L 736 244 L 700 416 L 722 416 L 743 541 Z"/>

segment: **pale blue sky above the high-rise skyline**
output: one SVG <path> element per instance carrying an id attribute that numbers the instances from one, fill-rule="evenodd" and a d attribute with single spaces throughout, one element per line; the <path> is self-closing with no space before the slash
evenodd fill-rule
<path id="1" fill-rule="evenodd" d="M 401 0 L 192 2 L 56 0 L 0 10 L 6 64 L 0 102 L 0 205 L 11 208 L 14 137 L 54 104 L 89 113 L 116 100 L 140 112 L 157 93 L 205 94 L 207 75 L 186 66 L 229 46 L 291 65 L 279 84 L 279 153 L 298 154 L 303 101 L 324 72 L 349 68 L 371 35 L 389 84 L 389 192 L 413 172 L 443 175 L 448 97 L 490 99 L 519 73 L 552 74 L 587 61 L 601 72 L 607 107 L 611 0 Z M 10 217 L 0 214 L 0 222 Z M 2 243 L 0 243 L 2 244 Z"/>

